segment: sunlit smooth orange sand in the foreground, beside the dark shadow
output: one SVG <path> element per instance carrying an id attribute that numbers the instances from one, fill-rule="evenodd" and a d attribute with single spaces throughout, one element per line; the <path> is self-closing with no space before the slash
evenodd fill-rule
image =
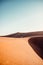
<path id="1" fill-rule="evenodd" d="M 43 60 L 29 45 L 30 37 L 0 37 L 0 65 L 43 65 Z"/>

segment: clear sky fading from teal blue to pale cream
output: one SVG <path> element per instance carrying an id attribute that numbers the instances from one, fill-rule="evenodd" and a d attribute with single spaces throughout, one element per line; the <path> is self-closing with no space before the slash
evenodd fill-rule
<path id="1" fill-rule="evenodd" d="M 0 35 L 43 31 L 43 0 L 0 0 Z"/>

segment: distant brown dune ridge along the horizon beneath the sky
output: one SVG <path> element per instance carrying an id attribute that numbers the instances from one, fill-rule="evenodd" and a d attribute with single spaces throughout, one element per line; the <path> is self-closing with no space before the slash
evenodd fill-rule
<path id="1" fill-rule="evenodd" d="M 2 37 L 13 37 L 13 38 L 23 38 L 23 37 L 31 37 L 31 36 L 43 36 L 43 31 L 38 32 L 28 32 L 28 33 L 13 33 L 9 35 L 5 35 Z"/>

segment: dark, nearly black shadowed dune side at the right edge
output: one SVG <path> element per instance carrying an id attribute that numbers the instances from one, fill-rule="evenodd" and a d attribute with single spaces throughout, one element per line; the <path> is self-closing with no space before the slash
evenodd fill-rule
<path id="1" fill-rule="evenodd" d="M 32 37 L 28 40 L 33 50 L 43 59 L 43 37 Z"/>

